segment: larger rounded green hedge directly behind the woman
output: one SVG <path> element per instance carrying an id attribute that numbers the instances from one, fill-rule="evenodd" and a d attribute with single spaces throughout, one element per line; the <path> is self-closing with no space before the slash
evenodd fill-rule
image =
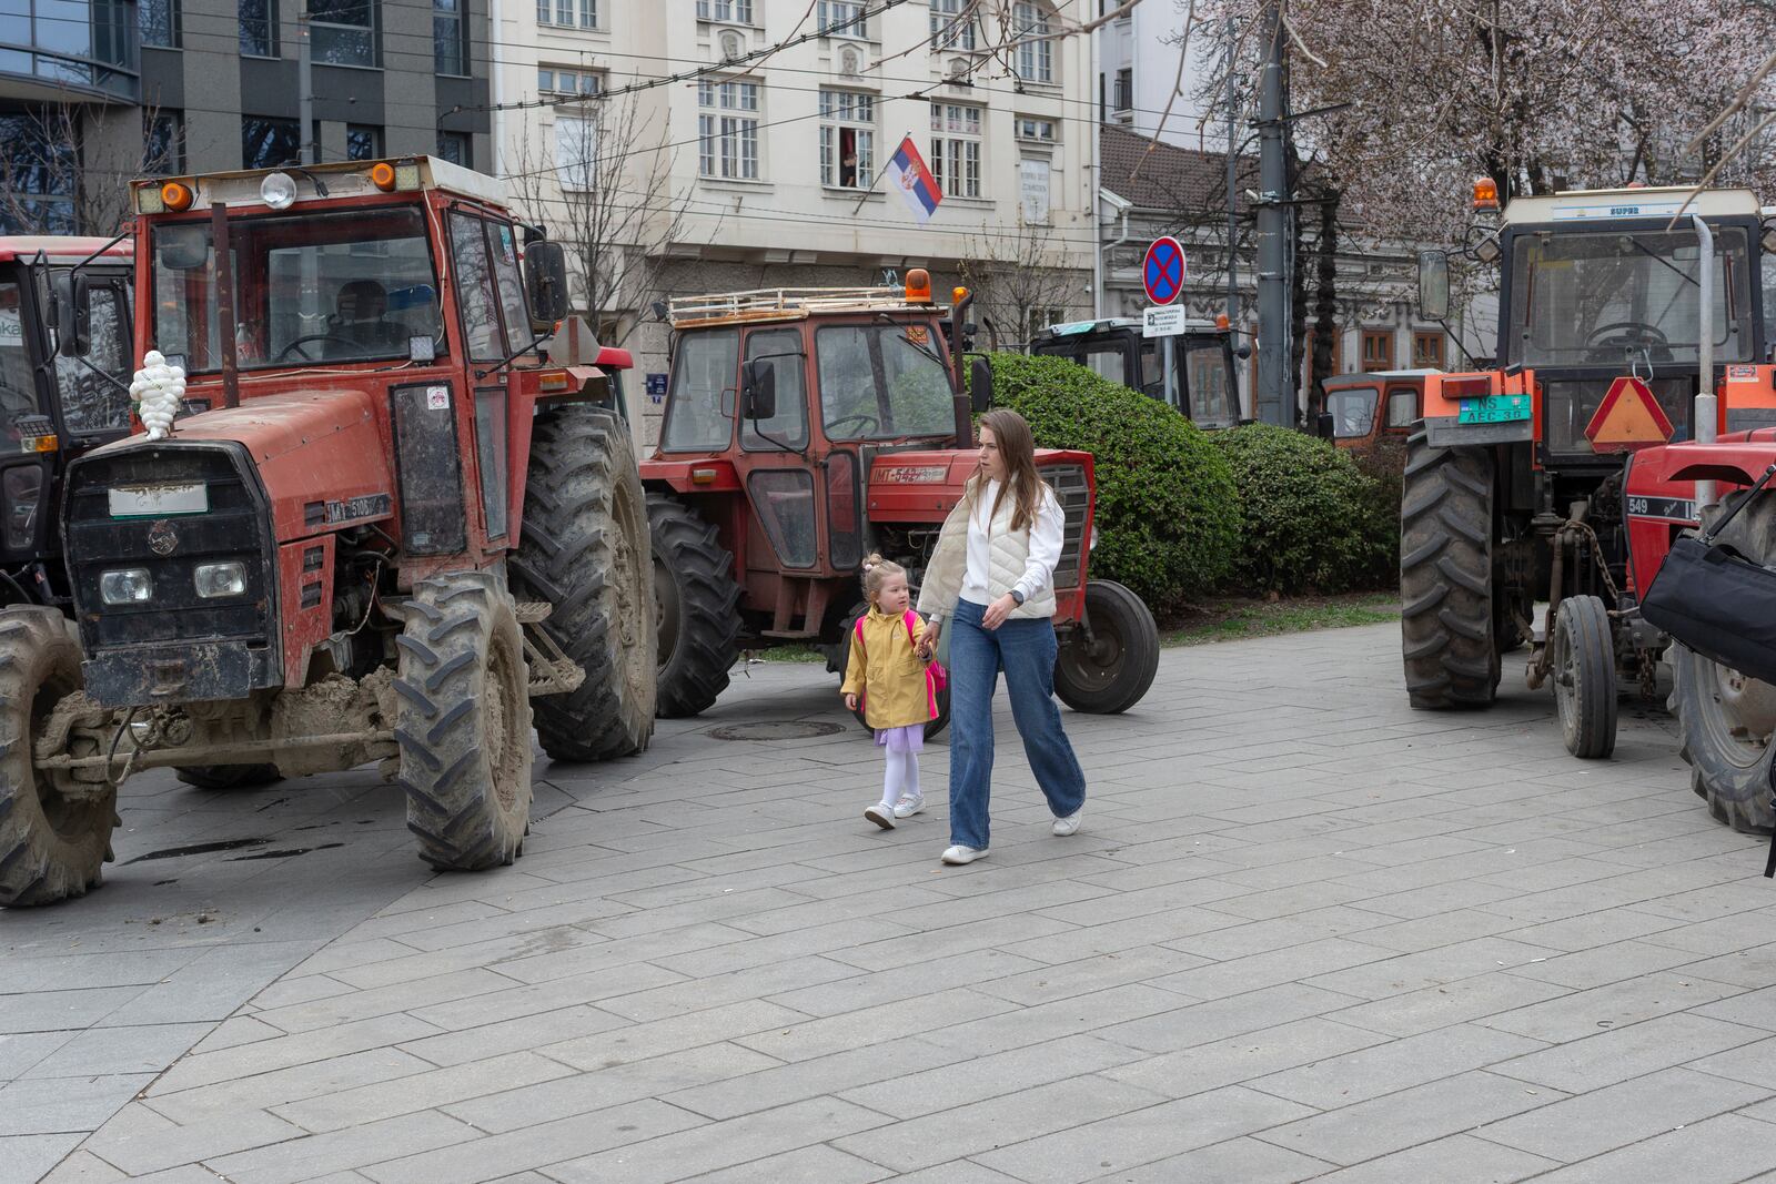
<path id="1" fill-rule="evenodd" d="M 1096 458 L 1092 575 L 1126 584 L 1162 612 L 1225 582 L 1238 540 L 1238 492 L 1208 433 L 1066 359 L 991 357 L 995 405 L 1028 419 L 1039 447 Z"/>

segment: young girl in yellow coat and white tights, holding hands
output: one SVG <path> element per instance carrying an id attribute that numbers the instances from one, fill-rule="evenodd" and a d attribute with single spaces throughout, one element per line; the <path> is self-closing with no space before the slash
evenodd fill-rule
<path id="1" fill-rule="evenodd" d="M 892 831 L 895 818 L 925 808 L 918 792 L 918 753 L 925 747 L 925 722 L 938 715 L 938 705 L 918 651 L 925 623 L 911 611 L 906 568 L 870 556 L 863 561 L 863 595 L 870 611 L 851 630 L 851 660 L 838 692 L 852 712 L 861 699 L 863 721 L 876 730 L 876 746 L 886 751 L 883 799 L 863 817 Z"/>

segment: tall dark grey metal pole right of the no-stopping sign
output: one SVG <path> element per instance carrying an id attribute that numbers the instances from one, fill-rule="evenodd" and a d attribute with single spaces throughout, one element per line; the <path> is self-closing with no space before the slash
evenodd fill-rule
<path id="1" fill-rule="evenodd" d="M 1265 67 L 1257 92 L 1257 419 L 1295 424 L 1289 403 L 1289 165 L 1282 124 L 1282 2 L 1265 5 Z"/>

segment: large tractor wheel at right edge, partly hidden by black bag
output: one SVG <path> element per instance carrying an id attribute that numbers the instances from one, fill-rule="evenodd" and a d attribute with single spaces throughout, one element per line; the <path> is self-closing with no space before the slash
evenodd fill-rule
<path id="1" fill-rule="evenodd" d="M 1714 520 L 1719 506 L 1703 511 Z M 1756 502 L 1726 524 L 1721 541 L 1753 563 L 1776 561 L 1776 497 Z M 1691 648 L 1671 643 L 1669 710 L 1678 724 L 1678 756 L 1689 763 L 1689 788 L 1719 822 L 1748 834 L 1776 829 L 1771 762 L 1776 754 L 1776 685 L 1746 678 Z"/>

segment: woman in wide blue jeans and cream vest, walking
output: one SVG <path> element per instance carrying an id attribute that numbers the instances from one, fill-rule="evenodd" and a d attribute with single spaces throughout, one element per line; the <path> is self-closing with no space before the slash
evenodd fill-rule
<path id="1" fill-rule="evenodd" d="M 1011 715 L 1035 783 L 1073 834 L 1085 809 L 1085 774 L 1055 706 L 1055 563 L 1066 517 L 1035 476 L 1030 424 L 1012 410 L 980 421 L 980 467 L 943 522 L 925 568 L 920 637 L 932 651 L 950 634 L 950 847 L 943 863 L 987 854 L 993 783 L 993 696 L 1005 671 Z M 947 620 L 948 618 L 948 620 Z"/>

